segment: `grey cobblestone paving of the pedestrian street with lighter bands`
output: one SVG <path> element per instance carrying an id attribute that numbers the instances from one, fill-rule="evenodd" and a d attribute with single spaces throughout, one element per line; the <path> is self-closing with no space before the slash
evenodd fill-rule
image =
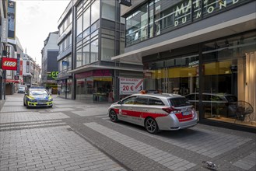
<path id="1" fill-rule="evenodd" d="M 110 104 L 54 96 L 26 109 L 23 94 L 0 111 L 0 170 L 256 170 L 256 134 L 198 124 L 149 134 L 107 117 Z"/>

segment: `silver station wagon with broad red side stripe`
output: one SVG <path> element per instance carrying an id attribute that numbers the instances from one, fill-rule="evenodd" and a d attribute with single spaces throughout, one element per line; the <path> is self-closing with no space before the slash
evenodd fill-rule
<path id="1" fill-rule="evenodd" d="M 156 134 L 161 130 L 180 130 L 198 123 L 198 115 L 184 96 L 176 94 L 133 94 L 108 109 L 112 122 L 124 120 Z"/>

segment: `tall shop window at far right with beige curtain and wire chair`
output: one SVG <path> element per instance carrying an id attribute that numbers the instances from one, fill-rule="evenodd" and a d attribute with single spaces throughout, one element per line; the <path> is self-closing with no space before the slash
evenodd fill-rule
<path id="1" fill-rule="evenodd" d="M 256 126 L 256 115 L 237 120 L 234 103 L 242 101 L 256 109 L 255 33 L 204 44 L 202 56 L 202 102 L 204 117 Z M 241 110 L 248 110 L 241 106 Z"/>

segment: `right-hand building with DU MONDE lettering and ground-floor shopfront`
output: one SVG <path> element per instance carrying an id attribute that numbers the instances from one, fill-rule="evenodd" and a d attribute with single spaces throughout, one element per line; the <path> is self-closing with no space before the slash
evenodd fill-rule
<path id="1" fill-rule="evenodd" d="M 141 61 L 145 88 L 191 97 L 198 103 L 202 123 L 254 129 L 255 112 L 236 121 L 219 108 L 206 108 L 205 102 L 219 105 L 220 99 L 211 97 L 229 94 L 256 110 L 256 2 L 132 3 L 121 10 L 125 53 L 112 60 Z"/>

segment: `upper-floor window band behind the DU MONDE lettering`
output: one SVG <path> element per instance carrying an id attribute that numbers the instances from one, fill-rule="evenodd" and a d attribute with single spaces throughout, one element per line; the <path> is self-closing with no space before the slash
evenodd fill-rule
<path id="1" fill-rule="evenodd" d="M 151 0 L 126 18 L 126 47 L 225 12 L 250 0 Z"/>

